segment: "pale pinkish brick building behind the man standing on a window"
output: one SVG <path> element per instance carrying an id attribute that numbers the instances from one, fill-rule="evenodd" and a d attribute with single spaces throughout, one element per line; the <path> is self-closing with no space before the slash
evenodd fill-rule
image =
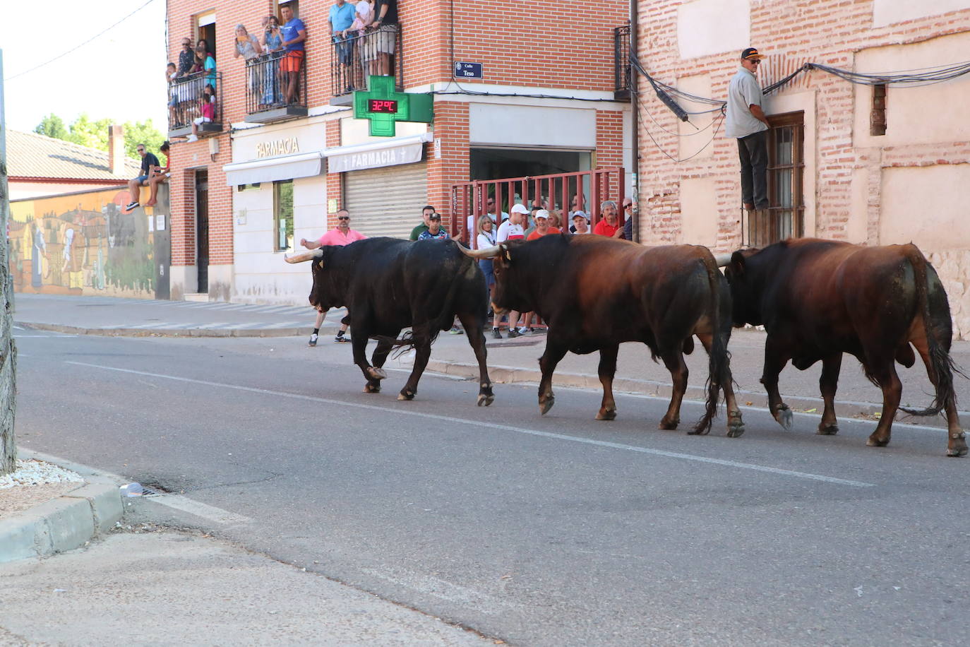
<path id="1" fill-rule="evenodd" d="M 805 63 L 884 75 L 970 58 L 968 0 L 655 0 L 639 3 L 637 26 L 647 73 L 722 100 L 749 46 L 767 56 L 762 87 Z M 787 236 L 912 241 L 946 285 L 954 333 L 970 336 L 962 195 L 970 185 L 970 75 L 880 87 L 814 69 L 768 95 L 770 217 L 745 226 L 743 240 L 737 146 L 719 132 L 720 112 L 681 100 L 700 114 L 680 122 L 647 81 L 638 85 L 644 243 L 729 250 Z"/>

